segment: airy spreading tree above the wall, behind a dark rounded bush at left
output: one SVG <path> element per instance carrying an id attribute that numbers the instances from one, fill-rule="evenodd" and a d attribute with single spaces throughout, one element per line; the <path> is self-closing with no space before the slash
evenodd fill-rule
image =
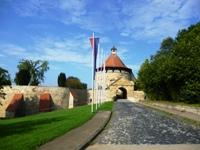
<path id="1" fill-rule="evenodd" d="M 17 66 L 19 70 L 28 70 L 31 79 L 29 85 L 38 85 L 44 81 L 44 73 L 49 69 L 48 62 L 37 60 L 21 60 Z"/>

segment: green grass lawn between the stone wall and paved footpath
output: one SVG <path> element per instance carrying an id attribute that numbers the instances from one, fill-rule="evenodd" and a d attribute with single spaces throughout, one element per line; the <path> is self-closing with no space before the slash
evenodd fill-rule
<path id="1" fill-rule="evenodd" d="M 112 102 L 99 110 L 111 110 Z M 0 120 L 0 149 L 30 150 L 91 119 L 90 106 Z"/>

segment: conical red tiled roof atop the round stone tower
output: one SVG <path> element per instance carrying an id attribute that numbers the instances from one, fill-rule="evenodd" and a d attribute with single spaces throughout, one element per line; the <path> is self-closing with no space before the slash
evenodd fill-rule
<path id="1" fill-rule="evenodd" d="M 115 53 L 111 53 L 110 56 L 106 60 L 106 67 L 120 67 L 127 68 L 126 65 L 122 62 L 122 60 Z"/>

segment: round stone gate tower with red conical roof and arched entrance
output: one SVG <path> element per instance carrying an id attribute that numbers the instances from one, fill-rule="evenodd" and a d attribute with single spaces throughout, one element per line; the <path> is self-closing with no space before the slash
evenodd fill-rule
<path id="1" fill-rule="evenodd" d="M 103 66 L 103 65 L 102 65 Z M 99 70 L 97 69 L 96 80 L 101 80 Z M 117 55 L 117 49 L 113 47 L 111 54 L 106 59 L 106 100 L 112 100 L 120 95 L 122 98 L 129 98 L 133 95 L 135 77 L 132 70 L 128 68 Z"/>

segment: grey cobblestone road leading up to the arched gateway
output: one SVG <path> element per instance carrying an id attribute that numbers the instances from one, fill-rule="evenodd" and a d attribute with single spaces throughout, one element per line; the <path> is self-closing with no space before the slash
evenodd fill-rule
<path id="1" fill-rule="evenodd" d="M 127 100 L 118 100 L 98 144 L 200 144 L 200 129 Z"/>

